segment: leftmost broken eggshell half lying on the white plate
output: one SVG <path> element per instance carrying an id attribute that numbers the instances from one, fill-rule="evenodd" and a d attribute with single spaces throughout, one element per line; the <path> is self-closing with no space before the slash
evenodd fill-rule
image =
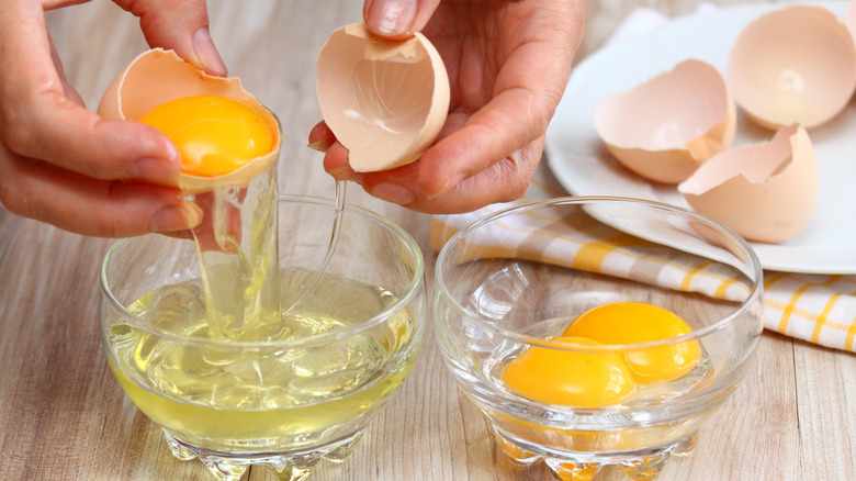
<path id="1" fill-rule="evenodd" d="M 606 97 L 595 111 L 595 128 L 624 167 L 674 184 L 731 145 L 736 108 L 719 71 L 688 59 Z"/>

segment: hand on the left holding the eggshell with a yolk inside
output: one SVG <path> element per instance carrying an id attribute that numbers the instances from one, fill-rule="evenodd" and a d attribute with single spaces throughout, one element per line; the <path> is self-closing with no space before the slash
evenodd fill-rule
<path id="1" fill-rule="evenodd" d="M 83 0 L 86 1 L 86 0 Z M 159 132 L 88 111 L 69 85 L 44 11 L 81 0 L 2 0 L 0 202 L 11 212 L 85 235 L 181 232 L 200 221 L 178 189 L 181 159 Z M 139 18 L 149 45 L 213 75 L 226 68 L 204 0 L 115 0 Z"/>

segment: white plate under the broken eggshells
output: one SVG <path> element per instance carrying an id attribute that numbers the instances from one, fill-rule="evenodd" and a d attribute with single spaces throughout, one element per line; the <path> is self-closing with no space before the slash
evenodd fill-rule
<path id="1" fill-rule="evenodd" d="M 847 2 L 812 3 L 842 15 Z M 575 195 L 623 195 L 689 208 L 674 186 L 652 184 L 627 170 L 595 132 L 594 112 L 607 94 L 628 90 L 687 58 L 713 65 L 725 76 L 731 46 L 754 19 L 781 5 L 751 4 L 675 20 L 652 33 L 610 45 L 574 68 L 547 131 L 548 163 Z M 742 116 L 732 146 L 762 142 L 773 133 Z M 820 170 L 820 198 L 803 232 L 781 244 L 752 243 L 765 269 L 856 273 L 856 101 L 829 124 L 812 130 Z"/>

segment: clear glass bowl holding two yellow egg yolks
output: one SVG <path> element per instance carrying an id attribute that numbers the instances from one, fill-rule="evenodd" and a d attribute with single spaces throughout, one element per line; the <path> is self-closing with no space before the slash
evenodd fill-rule
<path id="1" fill-rule="evenodd" d="M 437 258 L 446 363 L 513 461 L 562 480 L 609 465 L 658 476 L 744 377 L 763 329 L 746 242 L 698 213 L 637 199 L 502 210 Z"/>

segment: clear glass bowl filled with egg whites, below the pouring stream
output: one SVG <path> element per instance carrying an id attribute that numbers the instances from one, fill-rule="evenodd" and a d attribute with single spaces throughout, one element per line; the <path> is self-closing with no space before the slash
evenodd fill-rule
<path id="1" fill-rule="evenodd" d="M 314 279 L 334 209 L 329 200 L 280 197 L 283 306 Z M 193 242 L 149 235 L 110 249 L 101 270 L 104 351 L 173 455 L 200 458 L 223 480 L 249 465 L 303 479 L 323 458 L 342 460 L 404 381 L 427 322 L 421 253 L 378 214 L 348 206 L 342 215 L 325 276 L 288 317 L 255 326 L 266 334 L 252 340 L 213 334 Z"/>

